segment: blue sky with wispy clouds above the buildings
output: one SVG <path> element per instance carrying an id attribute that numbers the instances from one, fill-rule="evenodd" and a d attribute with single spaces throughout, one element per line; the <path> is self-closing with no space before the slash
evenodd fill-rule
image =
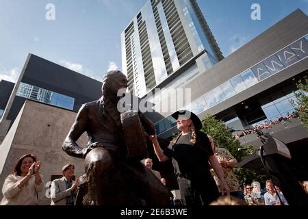
<path id="1" fill-rule="evenodd" d="M 55 6 L 55 16 L 49 3 Z M 120 34 L 146 0 L 0 0 L 0 80 L 15 82 L 28 53 L 101 81 L 122 69 Z M 224 57 L 308 0 L 197 0 Z M 260 20 L 251 18 L 253 3 Z M 47 19 L 46 18 L 47 15 Z"/>

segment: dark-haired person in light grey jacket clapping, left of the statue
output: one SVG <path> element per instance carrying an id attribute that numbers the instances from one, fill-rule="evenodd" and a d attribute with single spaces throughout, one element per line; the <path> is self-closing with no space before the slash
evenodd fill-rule
<path id="1" fill-rule="evenodd" d="M 62 167 L 63 177 L 51 183 L 51 205 L 74 205 L 79 179 L 73 181 L 75 166 L 66 164 Z"/>

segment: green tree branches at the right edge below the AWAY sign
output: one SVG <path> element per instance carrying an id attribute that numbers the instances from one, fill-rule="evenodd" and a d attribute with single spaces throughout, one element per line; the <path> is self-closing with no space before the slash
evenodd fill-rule
<path id="1" fill-rule="evenodd" d="M 303 122 L 303 126 L 308 130 L 308 96 L 306 96 L 308 92 L 308 79 L 303 79 L 296 83 L 296 86 L 300 92 L 296 92 L 296 112 L 298 113 L 298 118 Z M 306 94 L 305 94 L 306 92 Z"/>

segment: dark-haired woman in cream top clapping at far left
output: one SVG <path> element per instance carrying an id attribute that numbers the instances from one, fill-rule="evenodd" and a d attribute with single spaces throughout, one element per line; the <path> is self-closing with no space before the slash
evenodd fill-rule
<path id="1" fill-rule="evenodd" d="M 41 165 L 36 155 L 23 155 L 14 166 L 13 174 L 5 178 L 1 205 L 38 205 L 38 192 L 44 190 L 39 172 Z"/>

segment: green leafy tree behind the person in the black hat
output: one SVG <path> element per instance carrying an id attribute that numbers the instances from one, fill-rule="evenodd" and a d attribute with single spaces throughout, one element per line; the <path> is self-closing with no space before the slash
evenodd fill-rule
<path id="1" fill-rule="evenodd" d="M 238 151 L 238 149 L 242 147 L 240 142 L 233 138 L 229 127 L 227 127 L 222 120 L 218 120 L 214 116 L 205 116 L 202 125 L 201 130 L 213 138 L 214 144 L 230 151 L 238 162 L 241 162 L 243 159 L 251 155 L 251 153 L 256 151 L 252 145 L 245 145 L 247 150 Z M 240 185 L 243 183 L 252 183 L 253 181 L 259 181 L 264 184 L 266 179 L 268 179 L 268 177 L 266 177 L 266 170 L 264 169 L 251 170 L 247 168 L 235 168 L 234 172 L 240 181 Z"/>

